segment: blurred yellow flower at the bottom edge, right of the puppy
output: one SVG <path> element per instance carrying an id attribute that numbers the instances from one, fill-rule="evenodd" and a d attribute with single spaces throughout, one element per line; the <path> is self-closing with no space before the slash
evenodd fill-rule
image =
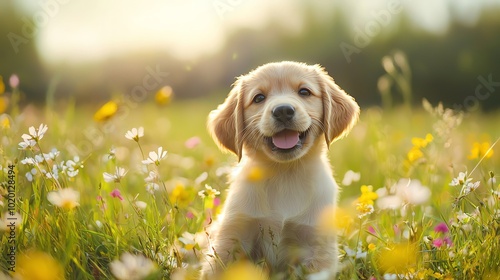
<path id="1" fill-rule="evenodd" d="M 405 273 L 417 264 L 417 248 L 409 243 L 395 244 L 375 258 L 381 273 Z"/>

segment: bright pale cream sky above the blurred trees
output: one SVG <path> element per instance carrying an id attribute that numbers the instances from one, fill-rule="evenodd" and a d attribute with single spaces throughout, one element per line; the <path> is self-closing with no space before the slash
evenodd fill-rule
<path id="1" fill-rule="evenodd" d="M 166 50 L 179 59 L 196 59 L 219 51 L 239 27 L 260 29 L 280 24 L 301 30 L 304 5 L 318 17 L 342 8 L 353 26 L 363 27 L 389 3 L 402 3 L 412 20 L 433 32 L 446 30 L 448 6 L 473 24 L 482 5 L 498 0 L 20 0 L 39 22 L 37 45 L 47 61 L 98 60 L 116 53 Z M 43 4 L 43 3 L 50 3 Z M 329 4 L 327 4 L 329 3 Z M 332 4 L 333 3 L 333 4 Z M 453 4 L 451 4 L 453 3 Z M 40 17 L 41 16 L 41 17 Z"/>

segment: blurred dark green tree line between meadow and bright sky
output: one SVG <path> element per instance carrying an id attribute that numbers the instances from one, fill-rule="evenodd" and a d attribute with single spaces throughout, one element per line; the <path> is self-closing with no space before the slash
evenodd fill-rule
<path id="1" fill-rule="evenodd" d="M 0 18 L 0 34 L 5 39 L 12 30 L 20 30 L 23 22 L 14 6 L 4 5 L 3 9 L 10 9 Z M 129 94 L 134 86 L 143 83 L 147 67 L 158 67 L 168 73 L 158 88 L 172 86 L 177 98 L 211 94 L 220 98 L 236 76 L 266 62 L 296 60 L 323 65 L 361 105 L 379 105 L 377 83 L 385 74 L 382 58 L 400 50 L 406 54 L 411 70 L 414 104 L 425 97 L 456 109 L 490 110 L 500 106 L 499 9 L 483 10 L 474 26 L 452 17 L 447 32 L 439 35 L 413 25 L 404 10 L 393 15 L 390 25 L 380 24 L 380 32 L 375 32 L 376 26 L 368 32 L 363 30 L 366 26 L 354 28 L 341 10 L 331 11 L 328 19 L 316 18 L 307 4 L 303 10 L 307 20 L 298 34 L 290 34 L 277 24 L 260 31 L 240 29 L 231 34 L 223 51 L 188 62 L 167 52 L 144 52 L 88 64 L 45 66 L 34 40 L 16 54 L 9 40 L 2 39 L 0 75 L 19 75 L 25 102 L 45 101 L 54 77 L 58 100 L 96 102 L 114 93 Z M 360 30 L 365 34 L 360 35 Z M 363 36 L 368 37 L 368 42 L 362 42 Z M 402 100 L 397 91 L 391 88 L 396 103 Z"/>

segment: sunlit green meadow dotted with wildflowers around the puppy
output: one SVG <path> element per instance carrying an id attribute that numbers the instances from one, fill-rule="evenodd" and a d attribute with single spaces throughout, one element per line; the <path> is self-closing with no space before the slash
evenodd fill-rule
<path id="1" fill-rule="evenodd" d="M 2 115 L 4 278 L 195 279 L 236 163 L 205 129 L 222 98 L 124 102 L 100 121 L 71 104 Z M 342 192 L 321 222 L 340 236 L 340 279 L 500 278 L 500 114 L 425 107 L 363 108 L 331 146 Z M 256 279 L 247 263 L 235 274 Z"/>

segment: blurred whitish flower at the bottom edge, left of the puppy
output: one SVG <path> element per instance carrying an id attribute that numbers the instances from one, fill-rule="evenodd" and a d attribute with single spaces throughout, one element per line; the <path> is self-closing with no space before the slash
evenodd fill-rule
<path id="1" fill-rule="evenodd" d="M 124 253 L 120 260 L 109 264 L 111 273 L 119 280 L 145 279 L 156 270 L 156 265 L 142 255 Z"/>

